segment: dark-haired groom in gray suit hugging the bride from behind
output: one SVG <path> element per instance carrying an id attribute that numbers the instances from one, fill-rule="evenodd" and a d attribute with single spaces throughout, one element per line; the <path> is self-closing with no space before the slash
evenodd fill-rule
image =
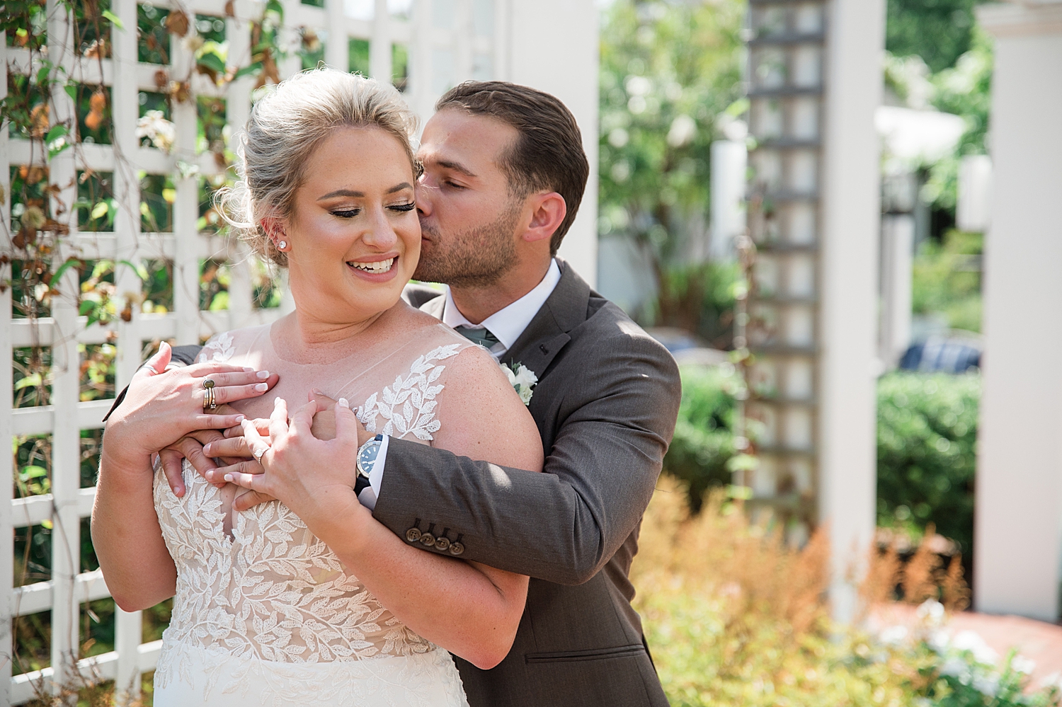
<path id="1" fill-rule="evenodd" d="M 545 472 L 388 439 L 362 502 L 425 552 L 531 576 L 506 659 L 483 671 L 456 658 L 473 707 L 664 707 L 628 573 L 674 430 L 674 361 L 555 258 L 589 172 L 564 104 L 468 82 L 436 110 L 419 152 L 414 277 L 449 288 L 411 286 L 407 298 L 537 376 L 528 407 Z"/>

